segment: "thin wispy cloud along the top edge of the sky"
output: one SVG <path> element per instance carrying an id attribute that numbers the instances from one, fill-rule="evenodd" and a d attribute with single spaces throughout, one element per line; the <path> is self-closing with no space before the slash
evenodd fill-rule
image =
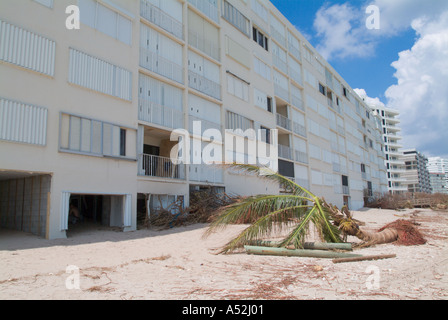
<path id="1" fill-rule="evenodd" d="M 376 5 L 380 10 L 380 30 L 366 27 L 365 9 Z M 347 3 L 324 5 L 316 13 L 314 29 L 316 49 L 327 60 L 368 57 L 384 38 L 407 30 L 416 19 L 434 20 L 448 10 L 446 0 L 365 0 L 361 6 Z"/>

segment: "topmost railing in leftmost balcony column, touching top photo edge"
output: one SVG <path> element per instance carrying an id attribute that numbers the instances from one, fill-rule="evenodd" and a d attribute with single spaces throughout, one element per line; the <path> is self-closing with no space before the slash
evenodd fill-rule
<path id="1" fill-rule="evenodd" d="M 147 0 L 140 1 L 140 15 L 179 39 L 184 38 L 182 22 L 177 21 Z"/>

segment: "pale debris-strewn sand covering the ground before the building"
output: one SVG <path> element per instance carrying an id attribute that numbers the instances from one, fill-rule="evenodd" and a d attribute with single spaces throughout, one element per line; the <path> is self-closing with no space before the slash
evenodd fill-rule
<path id="1" fill-rule="evenodd" d="M 357 211 L 354 217 L 378 229 L 411 218 L 413 211 Z M 55 241 L 0 230 L 0 299 L 446 300 L 448 213 L 421 210 L 416 222 L 427 244 L 360 249 L 356 253 L 397 257 L 342 264 L 317 258 L 216 255 L 215 249 L 244 226 L 231 226 L 207 239 L 202 239 L 206 225 L 162 232 L 91 230 Z M 80 270 L 79 290 L 66 287 L 70 265 Z"/>

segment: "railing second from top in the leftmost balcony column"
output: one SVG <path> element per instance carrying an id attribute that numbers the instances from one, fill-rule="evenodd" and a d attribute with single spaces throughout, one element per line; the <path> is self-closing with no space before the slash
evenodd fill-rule
<path id="1" fill-rule="evenodd" d="M 140 66 L 168 79 L 184 83 L 183 68 L 154 52 L 140 48 Z"/>

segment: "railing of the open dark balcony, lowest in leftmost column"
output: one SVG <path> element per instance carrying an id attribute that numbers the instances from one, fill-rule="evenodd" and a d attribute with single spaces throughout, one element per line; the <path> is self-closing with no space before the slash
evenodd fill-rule
<path id="1" fill-rule="evenodd" d="M 138 158 L 140 176 L 185 180 L 185 164 L 170 158 L 141 154 Z"/>

